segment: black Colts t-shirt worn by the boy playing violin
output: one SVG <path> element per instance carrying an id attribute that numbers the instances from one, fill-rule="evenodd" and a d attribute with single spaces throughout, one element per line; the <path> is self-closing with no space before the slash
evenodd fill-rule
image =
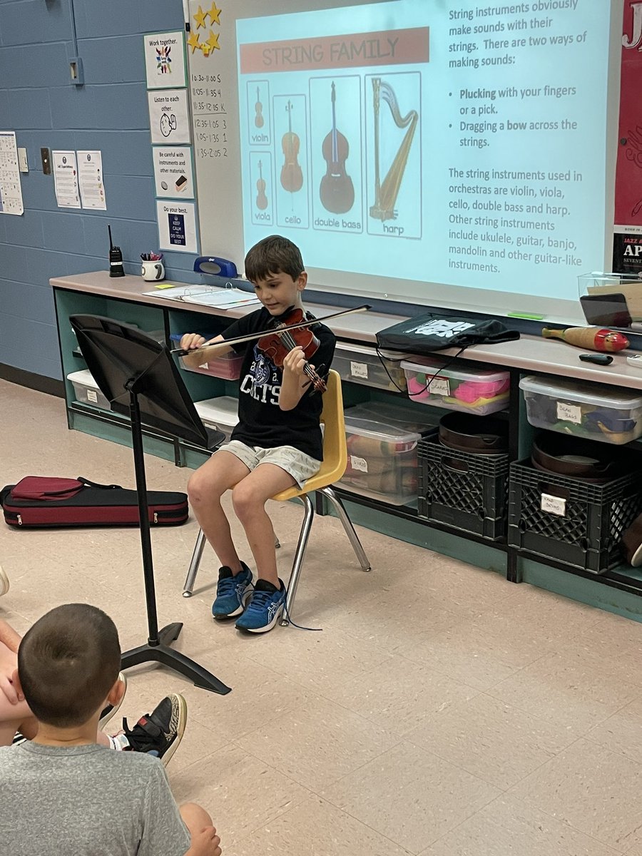
<path id="1" fill-rule="evenodd" d="M 309 312 L 306 316 L 314 317 Z M 223 338 L 248 336 L 268 330 L 273 325 L 270 312 L 261 308 L 230 324 L 223 332 Z M 312 331 L 319 346 L 310 362 L 315 368 L 324 366 L 323 371 L 327 372 L 335 353 L 335 335 L 324 324 L 315 324 Z M 239 380 L 239 424 L 232 431 L 232 439 L 261 449 L 294 446 L 294 449 L 300 449 L 317 461 L 323 460 L 319 425 L 322 396 L 313 392 L 311 384 L 296 407 L 282 410 L 279 407 L 282 368 L 275 366 L 259 351 L 257 341 L 240 342 L 232 348 L 239 354 L 245 352 Z"/>

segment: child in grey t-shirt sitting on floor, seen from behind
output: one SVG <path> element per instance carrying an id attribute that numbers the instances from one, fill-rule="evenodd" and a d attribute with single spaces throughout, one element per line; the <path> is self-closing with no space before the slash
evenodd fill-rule
<path id="1" fill-rule="evenodd" d="M 152 728 L 146 717 L 138 723 L 147 751 L 98 745 L 105 701 L 117 705 L 124 691 L 120 662 L 114 622 L 85 603 L 51 609 L 25 634 L 12 686 L 38 730 L 0 747 L 0 853 L 221 856 L 211 818 L 198 805 L 179 811 L 150 753 L 175 744 L 185 722 L 181 696 L 163 699 Z"/>

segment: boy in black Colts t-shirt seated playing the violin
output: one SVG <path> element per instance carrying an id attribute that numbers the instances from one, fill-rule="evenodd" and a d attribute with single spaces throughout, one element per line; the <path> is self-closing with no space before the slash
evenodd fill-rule
<path id="1" fill-rule="evenodd" d="M 282 614 L 286 594 L 276 571 L 274 532 L 265 502 L 281 490 L 294 485 L 303 487 L 318 472 L 323 459 L 319 425 L 322 401 L 304 373 L 306 358 L 302 348 L 289 350 L 279 367 L 260 351 L 258 340 L 226 344 L 235 336 L 268 331 L 276 324 L 286 323 L 293 309 L 303 310 L 301 293 L 306 288 L 307 274 L 299 248 L 279 235 L 264 238 L 247 253 L 245 272 L 263 307 L 230 324 L 220 336 L 211 339 L 215 348 L 208 348 L 208 359 L 229 353 L 232 348 L 244 354 L 239 424 L 230 442 L 193 473 L 187 493 L 222 566 L 212 614 L 217 619 L 239 616 L 235 624 L 238 629 L 265 633 Z M 314 324 L 311 329 L 319 342 L 313 366 L 319 372 L 327 372 L 335 336 L 324 324 Z M 195 333 L 186 333 L 181 339 L 181 348 L 199 348 L 203 344 L 203 336 Z M 235 514 L 245 529 L 256 563 L 254 585 L 252 571 L 236 552 L 221 505 L 221 496 L 230 488 Z"/>

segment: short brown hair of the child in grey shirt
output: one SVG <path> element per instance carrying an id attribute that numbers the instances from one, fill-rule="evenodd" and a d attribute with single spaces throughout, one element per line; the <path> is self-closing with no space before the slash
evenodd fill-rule
<path id="1" fill-rule="evenodd" d="M 120 664 L 116 625 L 87 603 L 51 609 L 18 648 L 27 704 L 39 722 L 57 728 L 91 719 L 116 683 Z"/>

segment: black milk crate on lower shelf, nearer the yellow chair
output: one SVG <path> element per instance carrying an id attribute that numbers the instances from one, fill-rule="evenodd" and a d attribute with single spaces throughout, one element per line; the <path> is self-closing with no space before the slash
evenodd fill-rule
<path id="1" fill-rule="evenodd" d="M 419 517 L 447 523 L 491 541 L 506 533 L 508 455 L 449 449 L 437 437 L 417 447 Z"/>

